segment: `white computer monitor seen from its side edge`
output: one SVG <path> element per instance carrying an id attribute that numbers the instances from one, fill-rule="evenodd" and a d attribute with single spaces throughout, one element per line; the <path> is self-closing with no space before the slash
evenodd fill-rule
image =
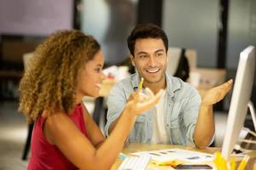
<path id="1" fill-rule="evenodd" d="M 249 46 L 241 52 L 236 71 L 235 85 L 222 147 L 222 156 L 226 160 L 230 160 L 231 152 L 234 149 L 247 115 L 247 104 L 250 101 L 253 89 L 254 65 L 255 48 Z"/>

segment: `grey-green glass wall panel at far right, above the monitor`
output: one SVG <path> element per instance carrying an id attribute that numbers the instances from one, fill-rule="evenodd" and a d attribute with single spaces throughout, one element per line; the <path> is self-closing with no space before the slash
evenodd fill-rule
<path id="1" fill-rule="evenodd" d="M 230 1 L 228 25 L 228 69 L 236 71 L 239 54 L 248 45 L 253 45 L 256 48 L 256 0 L 232 0 Z M 255 84 L 256 69 L 254 73 L 254 86 Z"/>

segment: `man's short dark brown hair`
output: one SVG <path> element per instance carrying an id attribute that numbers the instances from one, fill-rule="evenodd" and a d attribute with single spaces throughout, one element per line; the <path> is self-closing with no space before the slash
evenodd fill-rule
<path id="1" fill-rule="evenodd" d="M 132 31 L 130 36 L 127 38 L 127 45 L 130 50 L 130 53 L 134 56 L 134 47 L 135 42 L 139 38 L 160 38 L 166 48 L 166 53 L 168 49 L 168 37 L 166 32 L 163 31 L 159 26 L 156 26 L 152 23 L 148 24 L 138 24 Z"/>

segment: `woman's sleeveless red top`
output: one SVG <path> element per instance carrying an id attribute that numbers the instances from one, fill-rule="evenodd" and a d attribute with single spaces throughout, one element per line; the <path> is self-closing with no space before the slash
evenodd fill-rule
<path id="1" fill-rule="evenodd" d="M 81 105 L 77 105 L 72 114 L 68 115 L 76 124 L 79 130 L 84 133 L 86 137 L 86 127 L 84 123 L 84 115 Z M 55 145 L 49 144 L 44 137 L 44 117 L 40 116 L 35 122 L 32 132 L 32 154 L 28 163 L 27 169 L 78 169 L 72 162 L 61 153 Z"/>

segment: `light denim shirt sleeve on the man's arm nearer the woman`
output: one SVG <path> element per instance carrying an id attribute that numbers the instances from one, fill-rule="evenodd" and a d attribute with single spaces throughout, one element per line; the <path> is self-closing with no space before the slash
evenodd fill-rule
<path id="1" fill-rule="evenodd" d="M 108 95 L 108 114 L 107 123 L 104 129 L 106 136 L 109 135 L 109 127 L 111 124 L 119 118 L 126 105 L 125 90 L 122 88 L 122 82 L 118 82 L 110 91 Z"/>

